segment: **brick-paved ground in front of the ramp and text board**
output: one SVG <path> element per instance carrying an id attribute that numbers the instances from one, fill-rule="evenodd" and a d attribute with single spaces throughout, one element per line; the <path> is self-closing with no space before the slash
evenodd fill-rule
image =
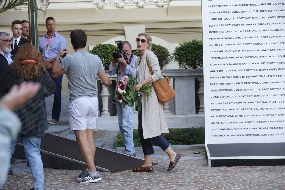
<path id="1" fill-rule="evenodd" d="M 77 170 L 45 169 L 45 189 L 266 189 L 285 190 L 285 166 L 208 167 L 204 155 L 193 152 L 203 150 L 179 150 L 180 161 L 170 172 L 166 169 L 169 159 L 156 151 L 153 161 L 159 163 L 153 172 L 135 173 L 131 170 L 101 172 L 102 180 L 92 184 L 76 183 Z M 139 157 L 142 152 L 136 151 Z M 191 156 L 192 155 L 192 156 Z M 118 163 L 119 164 L 119 163 Z M 33 177 L 29 171 L 8 176 L 3 188 L 30 189 Z"/>

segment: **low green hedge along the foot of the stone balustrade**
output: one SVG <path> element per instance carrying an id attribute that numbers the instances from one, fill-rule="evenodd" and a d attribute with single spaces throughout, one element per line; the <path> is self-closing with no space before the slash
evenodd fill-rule
<path id="1" fill-rule="evenodd" d="M 205 144 L 205 127 L 169 128 L 169 134 L 163 137 L 171 145 Z M 133 130 L 133 142 L 135 147 L 141 146 L 138 129 Z M 122 133 L 118 134 L 117 143 L 114 144 L 114 148 L 116 147 L 124 147 Z"/>

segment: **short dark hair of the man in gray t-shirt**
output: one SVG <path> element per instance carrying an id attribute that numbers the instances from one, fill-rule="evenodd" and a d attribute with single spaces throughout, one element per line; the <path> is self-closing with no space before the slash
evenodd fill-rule
<path id="1" fill-rule="evenodd" d="M 81 29 L 76 29 L 70 33 L 70 41 L 75 49 L 84 48 L 87 42 L 87 35 Z"/>

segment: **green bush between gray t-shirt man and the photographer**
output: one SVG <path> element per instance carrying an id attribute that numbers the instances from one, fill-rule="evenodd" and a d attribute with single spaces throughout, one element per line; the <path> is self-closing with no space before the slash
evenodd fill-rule
<path id="1" fill-rule="evenodd" d="M 113 61 L 113 52 L 118 50 L 119 48 L 112 44 L 98 44 L 93 47 L 89 53 L 98 55 L 103 63 L 105 70 L 109 70 L 109 65 Z"/>

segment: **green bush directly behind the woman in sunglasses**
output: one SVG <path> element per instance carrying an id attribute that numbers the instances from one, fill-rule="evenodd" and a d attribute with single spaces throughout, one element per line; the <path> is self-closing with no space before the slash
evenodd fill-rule
<path id="1" fill-rule="evenodd" d="M 152 43 L 152 52 L 154 52 L 154 54 L 156 55 L 161 68 L 164 65 L 167 65 L 172 59 L 168 49 L 166 49 L 165 47 L 163 47 L 161 45 L 156 45 L 156 44 Z M 139 56 L 140 51 L 136 50 L 134 52 L 134 54 Z"/>

